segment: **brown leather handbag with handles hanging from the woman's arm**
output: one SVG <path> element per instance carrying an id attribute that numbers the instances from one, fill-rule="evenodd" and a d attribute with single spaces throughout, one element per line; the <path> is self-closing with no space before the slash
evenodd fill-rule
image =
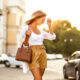
<path id="1" fill-rule="evenodd" d="M 24 45 L 28 45 L 28 39 L 29 37 L 26 36 L 25 41 L 23 43 Z M 31 63 L 32 62 L 32 50 L 29 47 L 29 45 L 27 48 L 23 48 L 23 44 L 21 48 L 18 48 L 17 50 L 16 60 Z"/>

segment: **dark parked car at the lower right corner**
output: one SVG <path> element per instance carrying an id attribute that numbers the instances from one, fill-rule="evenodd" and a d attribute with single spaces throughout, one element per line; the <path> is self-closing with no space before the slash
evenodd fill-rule
<path id="1" fill-rule="evenodd" d="M 64 78 L 74 77 L 76 80 L 80 80 L 80 51 L 74 52 L 65 60 L 67 63 L 63 66 Z"/>

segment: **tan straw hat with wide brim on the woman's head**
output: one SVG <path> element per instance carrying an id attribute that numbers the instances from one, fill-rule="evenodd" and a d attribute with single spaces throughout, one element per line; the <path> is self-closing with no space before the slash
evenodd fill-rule
<path id="1" fill-rule="evenodd" d="M 26 24 L 31 24 L 35 19 L 42 17 L 42 16 L 46 16 L 46 14 L 42 12 L 41 10 L 35 11 L 32 14 L 31 18 L 26 21 Z"/>

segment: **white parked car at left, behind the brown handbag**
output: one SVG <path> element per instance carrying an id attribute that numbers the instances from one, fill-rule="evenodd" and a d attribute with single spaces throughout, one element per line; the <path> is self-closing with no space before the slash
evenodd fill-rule
<path id="1" fill-rule="evenodd" d="M 10 67 L 11 65 L 14 65 L 17 68 L 19 68 L 22 65 L 22 62 L 15 60 L 14 56 L 7 56 L 6 54 L 1 54 L 1 55 L 2 55 L 3 64 L 5 65 L 5 67 Z"/>

